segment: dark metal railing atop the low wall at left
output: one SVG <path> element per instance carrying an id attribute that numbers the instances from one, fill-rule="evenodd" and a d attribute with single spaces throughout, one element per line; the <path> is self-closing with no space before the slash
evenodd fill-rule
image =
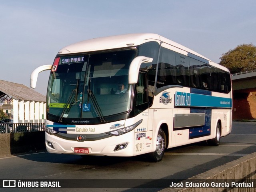
<path id="1" fill-rule="evenodd" d="M 0 123 L 0 134 L 34 131 L 44 131 L 44 123 Z"/>

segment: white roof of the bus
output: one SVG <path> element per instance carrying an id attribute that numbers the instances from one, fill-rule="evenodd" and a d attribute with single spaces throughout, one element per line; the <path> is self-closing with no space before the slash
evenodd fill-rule
<path id="1" fill-rule="evenodd" d="M 170 44 L 175 48 L 178 48 L 180 50 L 189 52 L 191 54 L 204 58 L 208 61 L 211 61 L 210 59 L 198 54 L 197 52 L 194 52 L 189 48 L 186 48 L 185 46 L 182 46 L 172 40 L 169 40 L 158 34 L 153 34 L 153 33 L 125 34 L 125 35 L 108 36 L 108 37 L 84 40 L 84 41 L 77 42 L 62 48 L 58 52 L 58 54 L 71 54 L 71 53 L 79 53 L 79 52 L 92 52 L 92 51 L 98 51 L 98 50 L 126 48 L 131 46 L 137 46 L 149 41 L 157 41 L 157 42 L 161 41 L 161 42 Z"/>

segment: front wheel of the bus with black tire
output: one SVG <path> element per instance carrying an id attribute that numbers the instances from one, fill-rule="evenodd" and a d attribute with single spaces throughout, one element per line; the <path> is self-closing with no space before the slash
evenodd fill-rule
<path id="1" fill-rule="evenodd" d="M 159 162 L 162 160 L 164 156 L 165 144 L 166 136 L 163 130 L 160 128 L 156 140 L 156 150 L 149 153 L 150 160 L 152 160 L 153 162 Z"/>

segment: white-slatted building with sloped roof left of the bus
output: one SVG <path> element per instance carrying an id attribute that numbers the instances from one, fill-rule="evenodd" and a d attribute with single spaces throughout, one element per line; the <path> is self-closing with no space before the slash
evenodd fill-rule
<path id="1" fill-rule="evenodd" d="M 42 123 L 46 96 L 22 84 L 0 80 L 0 109 L 11 115 L 13 123 Z"/>

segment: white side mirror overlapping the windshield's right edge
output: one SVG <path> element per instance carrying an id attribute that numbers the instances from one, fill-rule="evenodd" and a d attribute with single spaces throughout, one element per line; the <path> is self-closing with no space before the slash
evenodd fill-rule
<path id="1" fill-rule="evenodd" d="M 138 56 L 134 58 L 129 67 L 129 84 L 136 84 L 138 82 L 138 74 L 140 70 L 140 65 L 142 63 L 150 63 L 153 61 L 153 58 Z"/>

